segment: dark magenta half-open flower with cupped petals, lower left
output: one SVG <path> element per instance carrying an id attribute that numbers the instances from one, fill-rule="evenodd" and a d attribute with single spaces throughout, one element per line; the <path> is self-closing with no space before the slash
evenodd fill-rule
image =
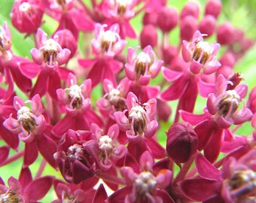
<path id="1" fill-rule="evenodd" d="M 54 159 L 67 182 L 81 183 L 96 172 L 99 144 L 91 132 L 69 129 L 59 141 Z"/>

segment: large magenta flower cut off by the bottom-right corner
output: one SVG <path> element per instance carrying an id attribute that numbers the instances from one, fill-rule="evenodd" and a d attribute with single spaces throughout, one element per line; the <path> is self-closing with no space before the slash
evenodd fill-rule
<path id="1" fill-rule="evenodd" d="M 239 159 L 233 156 L 225 159 L 221 171 L 198 153 L 196 165 L 200 177 L 183 180 L 180 188 L 193 201 L 252 203 L 256 195 L 255 153 L 251 150 Z"/>

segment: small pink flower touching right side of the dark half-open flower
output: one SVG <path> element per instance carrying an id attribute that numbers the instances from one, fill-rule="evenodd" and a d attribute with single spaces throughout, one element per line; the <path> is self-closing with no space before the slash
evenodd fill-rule
<path id="1" fill-rule="evenodd" d="M 102 129 L 95 123 L 90 127 L 90 131 L 96 136 L 99 144 L 99 164 L 103 169 L 109 169 L 114 162 L 123 158 L 126 155 L 126 147 L 118 144 L 116 139 L 119 135 L 119 127 L 114 124 L 109 127 L 108 132 L 104 134 Z"/>

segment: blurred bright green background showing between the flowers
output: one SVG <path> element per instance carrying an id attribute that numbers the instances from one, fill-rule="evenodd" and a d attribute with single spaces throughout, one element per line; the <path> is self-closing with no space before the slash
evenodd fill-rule
<path id="1" fill-rule="evenodd" d="M 157 1 L 157 0 L 156 0 Z M 88 3 L 89 1 L 84 1 Z M 200 0 L 197 1 L 200 3 L 201 8 L 206 4 L 206 0 Z M 224 0 L 223 2 L 223 9 L 221 16 L 219 17 L 218 24 L 223 23 L 225 21 L 230 21 L 233 23 L 233 25 L 237 28 L 243 29 L 250 38 L 253 38 L 256 40 L 256 16 L 254 14 L 254 11 L 256 9 L 256 0 Z M 13 26 L 11 26 L 11 19 L 9 14 L 11 13 L 11 8 L 14 3 L 14 0 L 0 0 L 0 25 L 4 21 L 7 21 L 9 28 L 11 29 L 12 38 L 13 38 L 13 45 L 12 50 L 15 54 L 20 56 L 26 56 L 31 58 L 30 56 L 30 50 L 32 47 L 34 47 L 34 40 L 32 36 L 29 36 L 27 38 L 24 38 L 25 35 L 20 34 L 17 32 L 16 29 L 14 29 Z M 178 11 L 181 10 L 181 8 L 187 3 L 187 1 L 179 0 L 179 1 L 168 1 L 168 4 L 171 6 L 174 6 L 178 9 Z M 203 11 L 201 12 L 203 14 Z M 140 21 L 142 20 L 142 15 L 139 15 L 136 17 L 136 19 L 132 20 L 133 25 L 136 27 L 136 31 L 139 33 L 142 29 L 142 23 Z M 53 30 L 56 28 L 57 23 L 55 20 L 52 20 L 50 17 L 44 16 L 44 25 L 42 26 L 42 29 L 44 29 L 45 32 L 48 34 L 51 34 Z M 174 38 L 174 39 L 173 39 Z M 178 41 L 178 29 L 174 32 L 172 35 L 172 41 Z M 129 40 L 128 46 L 134 47 L 138 45 L 138 41 L 136 40 Z M 236 64 L 235 71 L 241 72 L 242 77 L 245 79 L 243 80 L 243 83 L 248 84 L 248 89 L 250 90 L 253 86 L 255 86 L 255 77 L 256 77 L 256 46 L 251 48 L 251 50 L 248 51 L 248 53 L 245 55 L 245 57 Z M 95 91 L 99 91 L 99 89 L 96 89 Z M 96 99 L 96 98 L 94 98 Z M 202 105 L 205 104 L 205 101 L 199 101 L 197 103 L 196 112 L 202 111 Z M 170 104 L 175 106 L 174 104 Z M 160 142 L 161 144 L 165 144 L 166 135 L 165 132 L 169 128 L 169 123 L 162 123 L 162 129 L 160 130 Z M 250 123 L 246 123 L 245 127 L 242 129 L 239 129 L 239 134 L 242 135 L 248 135 L 251 133 L 251 127 Z M 3 141 L 0 141 L 0 147 L 4 145 Z M 20 149 L 23 148 L 23 144 L 20 144 Z M 15 152 L 11 152 L 11 154 L 14 154 Z M 0 168 L 0 177 L 7 182 L 8 178 L 10 176 L 14 176 L 18 178 L 20 173 L 20 167 L 22 164 L 22 160 L 19 159 L 16 162 L 13 162 L 11 165 L 5 165 L 4 167 Z M 38 161 L 35 162 L 30 168 L 32 170 L 32 174 L 36 174 L 38 171 L 38 168 L 41 164 L 41 157 L 39 157 Z M 54 171 L 53 168 L 50 168 L 50 166 L 46 167 L 46 170 L 44 171 L 44 174 L 50 174 L 50 175 L 56 175 L 57 177 L 61 178 L 61 175 L 59 174 L 59 171 Z M 43 175 L 44 175 L 43 174 Z M 55 198 L 55 193 L 53 189 L 47 194 L 47 196 L 42 199 L 42 202 L 50 202 Z"/>

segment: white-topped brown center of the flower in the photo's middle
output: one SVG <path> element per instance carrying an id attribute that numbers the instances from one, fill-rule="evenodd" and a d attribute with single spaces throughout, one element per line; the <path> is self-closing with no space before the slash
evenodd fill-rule
<path id="1" fill-rule="evenodd" d="M 129 120 L 133 125 L 133 130 L 137 134 L 142 134 L 147 126 L 146 111 L 141 105 L 136 105 L 129 112 Z"/>

